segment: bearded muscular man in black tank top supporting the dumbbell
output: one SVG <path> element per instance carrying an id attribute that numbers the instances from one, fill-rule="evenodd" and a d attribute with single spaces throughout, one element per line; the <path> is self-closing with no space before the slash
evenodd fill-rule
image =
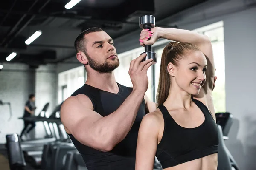
<path id="1" fill-rule="evenodd" d="M 138 130 L 156 104 L 145 95 L 152 59 L 142 54 L 130 63 L 133 88 L 116 82 L 119 66 L 111 37 L 100 28 L 83 31 L 76 57 L 87 71 L 85 85 L 61 106 L 61 121 L 88 170 L 134 170 Z M 150 149 L 150 148 L 149 148 Z"/>

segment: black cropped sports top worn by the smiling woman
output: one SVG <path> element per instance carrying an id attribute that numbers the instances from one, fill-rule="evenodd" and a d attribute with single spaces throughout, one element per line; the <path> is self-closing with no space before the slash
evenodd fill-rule
<path id="1" fill-rule="evenodd" d="M 218 129 L 208 108 L 200 101 L 192 99 L 204 113 L 204 122 L 195 128 L 178 125 L 165 106 L 158 108 L 163 113 L 163 137 L 157 146 L 157 159 L 163 169 L 184 162 L 218 153 Z"/>

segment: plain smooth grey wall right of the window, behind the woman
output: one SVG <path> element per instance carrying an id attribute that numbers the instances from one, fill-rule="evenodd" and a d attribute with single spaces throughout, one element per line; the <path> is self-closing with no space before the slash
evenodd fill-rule
<path id="1" fill-rule="evenodd" d="M 233 14 L 224 22 L 226 105 L 239 120 L 230 132 L 237 139 L 228 140 L 227 147 L 244 170 L 256 168 L 255 16 L 256 8 Z"/>

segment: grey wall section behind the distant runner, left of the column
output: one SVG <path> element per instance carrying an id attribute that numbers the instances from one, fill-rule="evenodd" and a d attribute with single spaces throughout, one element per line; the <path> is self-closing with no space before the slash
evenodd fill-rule
<path id="1" fill-rule="evenodd" d="M 0 100 L 10 102 L 12 118 L 9 119 L 9 106 L 0 105 L 0 143 L 6 142 L 6 134 L 18 133 L 23 129 L 24 105 L 29 94 L 35 93 L 35 71 L 23 64 L 5 64 L 0 72 Z"/>

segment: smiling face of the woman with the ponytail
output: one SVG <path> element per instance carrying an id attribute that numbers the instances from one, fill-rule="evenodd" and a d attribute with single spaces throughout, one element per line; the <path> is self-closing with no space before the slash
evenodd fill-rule
<path id="1" fill-rule="evenodd" d="M 177 85 L 189 94 L 198 95 L 206 80 L 207 60 L 201 51 L 192 51 L 175 69 Z"/>

